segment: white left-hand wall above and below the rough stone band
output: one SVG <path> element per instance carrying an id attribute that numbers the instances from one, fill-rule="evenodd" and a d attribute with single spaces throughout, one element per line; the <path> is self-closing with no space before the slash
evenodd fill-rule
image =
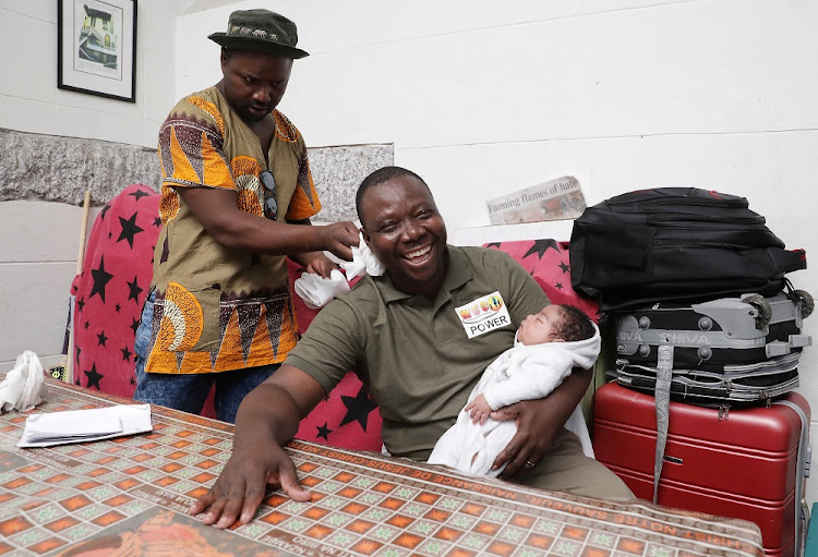
<path id="1" fill-rule="evenodd" d="M 175 14 L 189 3 L 137 2 L 131 104 L 58 89 L 57 2 L 0 0 L 0 128 L 155 147 L 177 100 Z M 59 172 L 60 161 L 52 165 Z M 23 350 L 34 350 L 46 366 L 59 361 L 81 220 L 82 209 L 65 204 L 0 203 L 0 371 L 12 368 Z"/>

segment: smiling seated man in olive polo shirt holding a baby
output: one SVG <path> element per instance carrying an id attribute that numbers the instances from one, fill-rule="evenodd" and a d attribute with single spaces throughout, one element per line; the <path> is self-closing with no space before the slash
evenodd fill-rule
<path id="1" fill-rule="evenodd" d="M 425 460 L 485 367 L 512 346 L 520 322 L 549 303 L 507 254 L 447 245 L 434 198 L 413 172 L 373 172 L 356 204 L 363 237 L 386 273 L 364 277 L 326 306 L 279 371 L 244 399 L 233 453 L 190 509 L 206 511 L 207 524 L 249 522 L 266 484 L 296 500 L 310 498 L 281 447 L 348 370 L 359 373 L 381 408 L 387 450 Z M 589 372 L 575 370 L 549 397 L 493 413 L 518 423 L 494 462 L 507 463 L 502 479 L 580 495 L 633 496 L 563 428 L 589 382 Z"/>

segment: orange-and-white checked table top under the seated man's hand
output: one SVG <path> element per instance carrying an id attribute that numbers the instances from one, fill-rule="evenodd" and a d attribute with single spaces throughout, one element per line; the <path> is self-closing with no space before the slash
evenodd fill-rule
<path id="1" fill-rule="evenodd" d="M 33 412 L 127 400 L 49 382 Z M 185 509 L 216 480 L 232 426 L 153 407 L 154 432 L 20 449 L 28 414 L 0 416 L 0 555 L 761 556 L 749 522 L 612 504 L 293 441 L 297 502 L 270 492 L 250 524 L 221 531 Z"/>

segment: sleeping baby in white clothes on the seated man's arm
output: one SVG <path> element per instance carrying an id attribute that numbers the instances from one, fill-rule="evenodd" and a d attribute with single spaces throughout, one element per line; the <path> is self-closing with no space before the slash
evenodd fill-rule
<path id="1" fill-rule="evenodd" d="M 593 366 L 599 351 L 599 329 L 577 307 L 548 305 L 529 315 L 517 329 L 514 347 L 485 368 L 457 422 L 437 440 L 429 462 L 474 475 L 500 475 L 505 467 L 491 467 L 517 433 L 517 425 L 514 420 L 492 420 L 491 412 L 548 396 L 575 365 Z M 578 412 L 575 410 L 569 422 L 582 420 Z"/>

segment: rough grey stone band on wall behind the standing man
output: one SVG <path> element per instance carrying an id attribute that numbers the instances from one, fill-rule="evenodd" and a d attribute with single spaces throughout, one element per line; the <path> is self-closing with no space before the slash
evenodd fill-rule
<path id="1" fill-rule="evenodd" d="M 29 199 L 82 205 L 91 187 L 93 205 L 104 205 L 127 185 L 159 189 L 156 149 L 0 129 L 0 201 Z M 309 149 L 323 204 L 318 219 L 354 220 L 354 192 L 366 174 L 393 162 L 392 145 Z"/>

